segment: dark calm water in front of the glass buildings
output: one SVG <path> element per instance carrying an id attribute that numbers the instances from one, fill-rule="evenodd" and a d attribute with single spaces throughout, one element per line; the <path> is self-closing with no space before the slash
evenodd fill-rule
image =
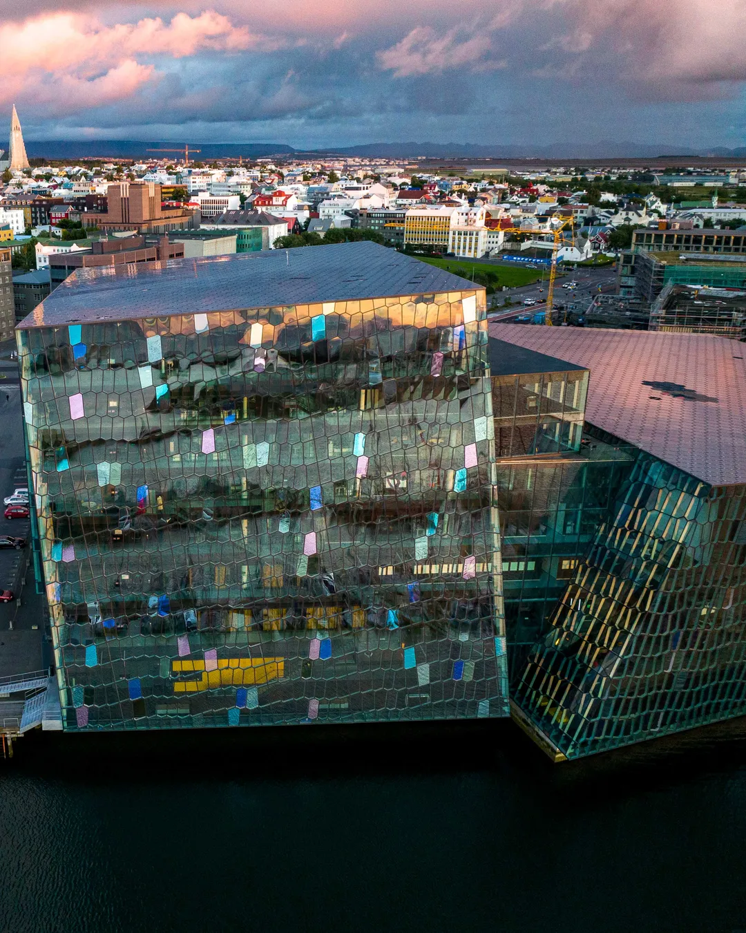
<path id="1" fill-rule="evenodd" d="M 35 732 L 0 930 L 746 931 L 746 726 L 560 765 L 509 722 Z"/>

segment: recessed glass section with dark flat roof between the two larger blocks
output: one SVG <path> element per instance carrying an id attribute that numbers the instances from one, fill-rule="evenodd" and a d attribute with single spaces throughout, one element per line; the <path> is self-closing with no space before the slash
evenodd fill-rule
<path id="1" fill-rule="evenodd" d="M 515 684 L 634 453 L 584 434 L 588 369 L 490 337 L 505 630 Z"/>

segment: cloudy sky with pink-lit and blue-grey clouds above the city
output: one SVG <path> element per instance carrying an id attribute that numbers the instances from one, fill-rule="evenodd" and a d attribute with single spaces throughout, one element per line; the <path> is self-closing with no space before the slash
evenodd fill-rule
<path id="1" fill-rule="evenodd" d="M 0 0 L 0 63 L 31 139 L 746 145 L 746 0 Z"/>

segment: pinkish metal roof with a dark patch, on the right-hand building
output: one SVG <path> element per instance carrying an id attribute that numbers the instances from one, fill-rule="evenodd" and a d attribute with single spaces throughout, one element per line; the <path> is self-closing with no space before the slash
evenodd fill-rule
<path id="1" fill-rule="evenodd" d="M 714 486 L 746 483 L 746 347 L 705 334 L 491 324 L 590 369 L 586 418 Z"/>

